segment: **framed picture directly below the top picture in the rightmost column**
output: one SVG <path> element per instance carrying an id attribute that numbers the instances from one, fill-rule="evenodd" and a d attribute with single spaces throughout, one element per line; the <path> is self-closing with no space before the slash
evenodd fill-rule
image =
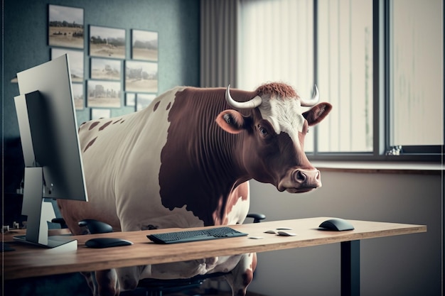
<path id="1" fill-rule="evenodd" d="M 158 63 L 127 60 L 125 62 L 127 92 L 158 92 Z"/>

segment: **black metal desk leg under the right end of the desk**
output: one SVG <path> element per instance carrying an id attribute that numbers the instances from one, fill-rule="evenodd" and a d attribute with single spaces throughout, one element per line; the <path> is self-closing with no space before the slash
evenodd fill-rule
<path id="1" fill-rule="evenodd" d="M 341 243 L 341 296 L 360 295 L 360 241 Z"/>

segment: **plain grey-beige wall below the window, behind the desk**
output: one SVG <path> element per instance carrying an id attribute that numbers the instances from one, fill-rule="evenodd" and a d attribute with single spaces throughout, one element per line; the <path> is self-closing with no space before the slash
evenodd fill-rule
<path id="1" fill-rule="evenodd" d="M 306 194 L 251 182 L 250 212 L 266 214 L 267 221 L 336 216 L 426 224 L 427 233 L 361 241 L 360 295 L 441 295 L 441 175 L 321 173 L 323 187 Z M 340 244 L 259 253 L 248 290 L 340 295 Z"/>

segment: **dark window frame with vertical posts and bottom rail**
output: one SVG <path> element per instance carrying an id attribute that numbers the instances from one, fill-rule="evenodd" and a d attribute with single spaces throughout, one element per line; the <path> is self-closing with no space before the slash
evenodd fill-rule
<path id="1" fill-rule="evenodd" d="M 444 19 L 442 19 L 442 28 Z M 318 81 L 318 1 L 313 0 L 313 74 Z M 442 51 L 444 55 L 444 51 Z M 313 152 L 310 160 L 391 161 L 444 163 L 444 145 L 403 146 L 400 155 L 388 155 L 390 147 L 390 1 L 372 0 L 372 152 L 318 152 L 318 128 L 313 128 Z M 445 118 L 445 104 L 444 104 Z M 445 136 L 444 136 L 445 137 Z"/>

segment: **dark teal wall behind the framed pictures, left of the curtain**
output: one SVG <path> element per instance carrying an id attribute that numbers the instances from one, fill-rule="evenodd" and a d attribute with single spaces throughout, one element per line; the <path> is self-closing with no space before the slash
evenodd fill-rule
<path id="1" fill-rule="evenodd" d="M 88 25 L 123 28 L 130 60 L 131 29 L 159 32 L 159 94 L 177 85 L 199 86 L 200 1 L 199 0 L 5 0 L 3 50 L 3 110 L 1 131 L 5 145 L 5 192 L 15 192 L 23 172 L 14 97 L 17 72 L 50 60 L 48 4 L 84 9 L 85 77 L 90 73 Z M 124 106 L 124 97 L 122 106 Z M 112 109 L 112 116 L 134 108 Z M 90 118 L 90 109 L 77 112 L 80 124 Z"/>

